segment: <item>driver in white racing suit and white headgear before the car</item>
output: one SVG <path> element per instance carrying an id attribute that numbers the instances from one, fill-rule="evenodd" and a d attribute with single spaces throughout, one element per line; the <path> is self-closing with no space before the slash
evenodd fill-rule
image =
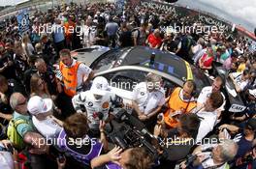
<path id="1" fill-rule="evenodd" d="M 111 93 L 108 80 L 98 76 L 93 80 L 90 90 L 76 95 L 72 102 L 77 112 L 86 114 L 90 129 L 98 131 L 100 120 L 108 121 L 112 104 L 121 102 L 121 99 L 117 99 L 119 98 Z"/>

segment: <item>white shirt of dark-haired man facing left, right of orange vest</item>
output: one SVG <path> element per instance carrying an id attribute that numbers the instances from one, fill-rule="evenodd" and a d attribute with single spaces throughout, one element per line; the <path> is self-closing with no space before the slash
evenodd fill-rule
<path id="1" fill-rule="evenodd" d="M 200 127 L 198 129 L 198 135 L 196 142 L 201 142 L 202 139 L 208 134 L 208 132 L 212 131 L 213 127 L 217 122 L 217 112 L 208 112 L 204 109 L 199 111 L 197 115 L 200 117 Z"/>

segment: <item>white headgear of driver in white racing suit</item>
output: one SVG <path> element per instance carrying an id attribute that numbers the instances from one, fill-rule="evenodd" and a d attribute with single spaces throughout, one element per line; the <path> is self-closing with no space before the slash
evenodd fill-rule
<path id="1" fill-rule="evenodd" d="M 109 82 L 103 76 L 98 76 L 94 78 L 90 91 L 95 95 L 104 96 L 110 91 Z"/>

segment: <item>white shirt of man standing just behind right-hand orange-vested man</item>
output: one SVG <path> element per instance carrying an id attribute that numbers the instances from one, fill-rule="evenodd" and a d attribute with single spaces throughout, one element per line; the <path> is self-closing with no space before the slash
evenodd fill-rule
<path id="1" fill-rule="evenodd" d="M 204 87 L 197 99 L 197 102 L 201 103 L 201 104 L 204 104 L 206 103 L 207 99 L 209 98 L 210 94 L 212 93 L 212 86 L 207 86 L 207 87 Z M 221 96 L 223 98 L 223 103 L 222 105 L 218 108 L 219 110 L 223 111 L 225 110 L 224 106 L 226 104 L 226 99 L 225 99 L 225 96 L 222 94 L 221 92 Z"/>

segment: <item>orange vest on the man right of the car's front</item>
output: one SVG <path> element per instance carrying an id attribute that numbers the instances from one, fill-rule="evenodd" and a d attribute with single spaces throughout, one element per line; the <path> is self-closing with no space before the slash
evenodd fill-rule
<path id="1" fill-rule="evenodd" d="M 183 101 L 180 99 L 180 92 L 181 88 L 177 87 L 169 99 L 169 109 L 164 114 L 164 121 L 168 127 L 176 127 L 178 124 L 178 120 L 175 117 L 172 117 L 172 115 L 175 115 L 176 110 L 181 110 L 182 113 L 188 113 L 197 105 L 195 100 Z"/>

